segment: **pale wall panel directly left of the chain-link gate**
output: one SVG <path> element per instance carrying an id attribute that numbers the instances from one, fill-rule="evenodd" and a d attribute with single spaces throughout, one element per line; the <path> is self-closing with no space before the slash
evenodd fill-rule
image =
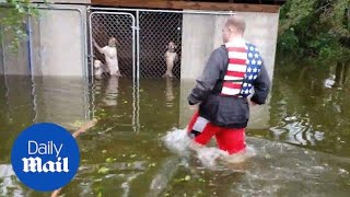
<path id="1" fill-rule="evenodd" d="M 86 74 L 85 5 L 55 5 L 32 20 L 33 74 Z M 77 10 L 63 10 L 77 9 Z"/>

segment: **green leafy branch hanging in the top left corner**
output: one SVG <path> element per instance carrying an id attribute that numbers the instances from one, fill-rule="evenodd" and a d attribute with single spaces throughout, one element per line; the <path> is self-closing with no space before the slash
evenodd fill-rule
<path id="1" fill-rule="evenodd" d="M 25 25 L 28 16 L 38 16 L 39 10 L 30 0 L 8 0 L 0 5 L 0 36 L 11 37 L 11 43 L 7 47 L 14 53 L 20 42 L 27 38 Z"/>

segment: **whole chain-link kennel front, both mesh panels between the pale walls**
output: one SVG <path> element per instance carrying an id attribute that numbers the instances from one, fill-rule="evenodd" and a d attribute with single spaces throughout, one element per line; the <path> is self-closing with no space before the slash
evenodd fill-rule
<path id="1" fill-rule="evenodd" d="M 176 61 L 172 73 L 175 78 L 180 77 L 180 55 L 182 55 L 182 25 L 183 14 L 173 12 L 118 12 L 119 10 L 94 11 L 90 15 L 91 46 L 94 59 L 100 59 L 105 63 L 103 54 L 93 47 L 94 39 L 101 47 L 107 45 L 110 37 L 118 40 L 118 62 L 121 74 L 128 78 L 133 76 L 132 65 L 138 61 L 139 68 L 136 68 L 140 78 L 155 79 L 162 78 L 166 72 L 165 53 L 170 42 L 176 45 Z M 135 14 L 135 16 L 132 15 Z M 137 15 L 139 14 L 139 15 Z M 138 19 L 139 37 L 136 40 L 135 18 Z M 138 47 L 139 59 L 135 58 Z M 93 62 L 92 60 L 92 62 Z M 92 69 L 93 69 L 93 65 Z"/>

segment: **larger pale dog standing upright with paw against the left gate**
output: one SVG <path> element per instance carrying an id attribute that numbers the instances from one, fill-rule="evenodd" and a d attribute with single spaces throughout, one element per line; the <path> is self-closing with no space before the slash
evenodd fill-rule
<path id="1" fill-rule="evenodd" d="M 108 67 L 110 76 L 120 77 L 119 66 L 118 66 L 118 53 L 117 53 L 117 39 L 110 37 L 108 45 L 101 48 L 95 40 L 93 40 L 94 46 L 97 50 L 105 56 L 106 65 Z"/>

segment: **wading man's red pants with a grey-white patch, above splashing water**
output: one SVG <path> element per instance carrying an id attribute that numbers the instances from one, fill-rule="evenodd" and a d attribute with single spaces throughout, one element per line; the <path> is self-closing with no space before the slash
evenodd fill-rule
<path id="1" fill-rule="evenodd" d="M 233 154 L 245 149 L 245 129 L 232 129 L 215 126 L 199 117 L 198 112 L 192 116 L 188 132 L 200 144 L 207 144 L 215 136 L 219 149 Z"/>

